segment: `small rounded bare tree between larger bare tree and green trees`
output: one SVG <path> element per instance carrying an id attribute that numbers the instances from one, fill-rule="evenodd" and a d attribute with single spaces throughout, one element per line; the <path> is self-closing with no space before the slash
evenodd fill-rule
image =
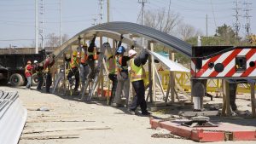
<path id="1" fill-rule="evenodd" d="M 200 31 L 196 31 L 195 27 L 189 24 L 180 24 L 177 28 L 177 33 L 181 35 L 183 40 L 188 40 L 190 37 L 201 35 Z"/>

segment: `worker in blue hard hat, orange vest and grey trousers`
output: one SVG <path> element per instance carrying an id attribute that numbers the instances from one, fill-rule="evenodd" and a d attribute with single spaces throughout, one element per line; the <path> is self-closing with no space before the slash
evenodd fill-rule
<path id="1" fill-rule="evenodd" d="M 117 89 L 114 96 L 114 107 L 123 107 L 121 104 L 121 94 L 122 90 L 124 90 L 124 95 L 126 98 L 125 104 L 128 107 L 128 100 L 129 100 L 129 89 L 130 89 L 130 81 L 128 77 L 128 65 L 127 61 L 130 60 L 129 56 L 124 56 L 125 48 L 123 46 L 119 46 L 119 49 L 116 52 L 116 66 L 118 68 L 117 71 Z"/>

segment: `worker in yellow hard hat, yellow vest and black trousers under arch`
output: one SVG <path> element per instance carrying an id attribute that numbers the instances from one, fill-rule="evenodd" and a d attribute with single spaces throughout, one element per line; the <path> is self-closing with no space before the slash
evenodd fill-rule
<path id="1" fill-rule="evenodd" d="M 74 91 L 78 91 L 79 89 L 79 58 L 78 52 L 76 50 L 73 51 L 73 57 L 70 61 L 70 70 L 67 74 L 67 79 L 69 81 L 69 84 L 72 85 L 72 76 L 75 76 L 75 87 Z"/>

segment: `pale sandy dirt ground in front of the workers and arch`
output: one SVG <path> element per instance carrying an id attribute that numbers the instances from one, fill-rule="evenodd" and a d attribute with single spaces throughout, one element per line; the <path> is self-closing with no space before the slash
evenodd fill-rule
<path id="1" fill-rule="evenodd" d="M 198 143 L 191 140 L 174 138 L 154 138 L 156 133 L 168 134 L 166 130 L 150 129 L 149 118 L 141 115 L 126 113 L 125 107 L 114 108 L 106 106 L 106 101 L 81 102 L 77 96 L 61 96 L 45 94 L 35 88 L 26 90 L 24 87 L 0 89 L 17 90 L 28 115 L 23 134 L 19 144 L 170 144 L 170 143 Z M 238 95 L 238 109 L 244 115 L 250 103 L 249 95 Z M 222 102 L 222 98 L 214 98 L 210 101 L 205 98 L 206 106 L 216 105 Z M 36 111 L 38 108 L 47 108 L 49 111 Z M 191 107 L 191 106 L 187 106 Z M 184 111 L 186 107 L 172 107 L 166 110 L 153 112 L 155 118 L 170 118 L 177 112 Z M 188 109 L 189 110 L 189 109 Z M 226 122 L 232 124 L 247 125 L 256 130 L 254 119 L 244 118 L 212 118 L 212 122 Z M 32 140 L 32 136 L 47 137 L 47 135 L 61 135 L 58 138 L 46 140 Z M 75 138 L 65 138 L 65 136 Z M 50 136 L 49 136 L 50 138 Z M 222 141 L 212 143 L 243 143 L 254 144 L 255 141 Z"/>

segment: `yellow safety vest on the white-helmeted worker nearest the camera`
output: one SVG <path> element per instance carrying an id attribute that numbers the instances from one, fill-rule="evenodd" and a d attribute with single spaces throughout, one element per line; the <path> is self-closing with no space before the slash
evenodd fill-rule
<path id="1" fill-rule="evenodd" d="M 143 66 L 136 66 L 134 64 L 134 59 L 131 59 L 130 61 L 131 66 L 131 82 L 143 80 L 146 78 L 146 72 L 143 68 Z"/>

